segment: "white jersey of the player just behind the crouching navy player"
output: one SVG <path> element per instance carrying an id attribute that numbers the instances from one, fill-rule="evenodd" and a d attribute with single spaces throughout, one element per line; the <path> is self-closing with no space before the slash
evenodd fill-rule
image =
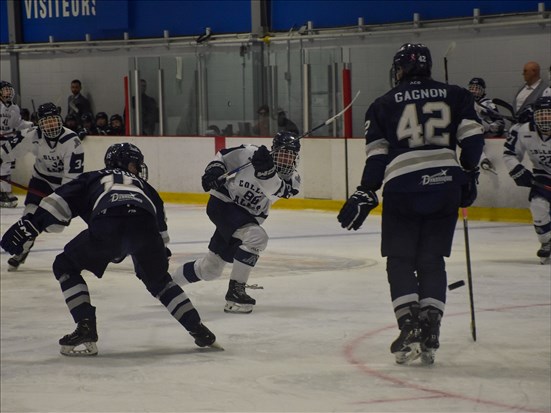
<path id="1" fill-rule="evenodd" d="M 22 136 L 2 145 L 3 162 L 32 152 L 36 157 L 32 176 L 48 182 L 53 190 L 84 171 L 82 142 L 72 130 L 64 127 L 57 141 L 46 139 L 38 128 L 23 131 Z"/>

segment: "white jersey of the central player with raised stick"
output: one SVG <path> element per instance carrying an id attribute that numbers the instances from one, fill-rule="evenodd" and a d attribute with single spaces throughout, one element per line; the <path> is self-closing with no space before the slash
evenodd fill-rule
<path id="1" fill-rule="evenodd" d="M 227 171 L 250 162 L 255 145 L 241 145 L 223 149 L 216 154 L 215 161 L 221 161 Z M 243 168 L 226 180 L 225 185 L 210 194 L 224 202 L 233 202 L 247 210 L 261 224 L 268 217 L 270 207 L 280 198 L 290 198 L 298 194 L 300 175 L 295 170 L 289 179 L 281 179 L 275 174 L 269 179 L 258 179 L 252 165 Z"/>

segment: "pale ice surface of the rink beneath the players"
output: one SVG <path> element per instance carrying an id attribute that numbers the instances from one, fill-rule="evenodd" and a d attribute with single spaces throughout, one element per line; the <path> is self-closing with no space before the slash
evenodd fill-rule
<path id="1" fill-rule="evenodd" d="M 173 270 L 206 251 L 214 227 L 203 206 L 166 207 Z M 1 210 L 2 233 L 21 213 Z M 282 209 L 265 223 L 252 314 L 222 311 L 229 266 L 184 288 L 225 351 L 197 348 L 126 259 L 100 280 L 85 273 L 99 355 L 61 356 L 75 325 L 51 264 L 84 227 L 42 234 L 18 272 L 0 255 L 2 412 L 551 411 L 551 267 L 529 224 L 469 222 L 478 339 L 467 286 L 449 291 L 433 366 L 389 352 L 380 216 L 348 232 L 335 212 Z M 461 220 L 447 270 L 448 283 L 467 281 Z"/>

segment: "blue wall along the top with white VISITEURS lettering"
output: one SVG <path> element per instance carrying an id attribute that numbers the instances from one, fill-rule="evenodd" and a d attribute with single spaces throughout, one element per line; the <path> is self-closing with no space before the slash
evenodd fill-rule
<path id="1" fill-rule="evenodd" d="M 270 0 L 273 31 L 299 28 L 311 20 L 314 27 L 353 26 L 358 17 L 366 24 L 535 12 L 537 0 L 523 1 L 374 1 Z M 545 1 L 549 10 L 551 1 Z M 250 0 L 20 0 L 23 41 L 47 42 L 199 35 L 205 27 L 214 33 L 249 33 Z M 0 42 L 8 42 L 7 0 L 0 0 Z"/>

